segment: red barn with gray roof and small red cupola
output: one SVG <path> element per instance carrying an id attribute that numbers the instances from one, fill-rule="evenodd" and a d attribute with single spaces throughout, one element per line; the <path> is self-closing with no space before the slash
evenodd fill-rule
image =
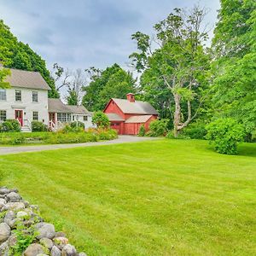
<path id="1" fill-rule="evenodd" d="M 157 119 L 157 111 L 148 102 L 136 101 L 134 94 L 127 94 L 127 100 L 111 99 L 104 113 L 108 115 L 111 128 L 119 134 L 137 135 L 141 125 L 146 131 L 151 121 Z"/>

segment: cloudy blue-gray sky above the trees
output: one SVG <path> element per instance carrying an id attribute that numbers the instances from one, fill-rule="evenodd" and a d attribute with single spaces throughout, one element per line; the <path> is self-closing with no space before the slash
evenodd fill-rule
<path id="1" fill-rule="evenodd" d="M 0 19 L 15 36 L 47 61 L 62 67 L 126 67 L 136 49 L 133 32 L 153 33 L 153 26 L 173 8 L 195 3 L 209 9 L 216 22 L 218 0 L 0 0 Z"/>

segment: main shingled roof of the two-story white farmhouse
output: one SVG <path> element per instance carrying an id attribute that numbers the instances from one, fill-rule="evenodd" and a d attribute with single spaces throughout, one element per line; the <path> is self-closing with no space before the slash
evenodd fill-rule
<path id="1" fill-rule="evenodd" d="M 11 75 L 6 81 L 14 87 L 50 90 L 49 85 L 38 72 L 10 68 Z"/>

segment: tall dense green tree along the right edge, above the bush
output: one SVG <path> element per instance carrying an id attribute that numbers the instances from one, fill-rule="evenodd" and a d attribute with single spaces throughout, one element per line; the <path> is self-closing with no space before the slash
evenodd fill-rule
<path id="1" fill-rule="evenodd" d="M 256 129 L 256 2 L 221 0 L 212 52 L 216 117 L 231 117 Z"/>

